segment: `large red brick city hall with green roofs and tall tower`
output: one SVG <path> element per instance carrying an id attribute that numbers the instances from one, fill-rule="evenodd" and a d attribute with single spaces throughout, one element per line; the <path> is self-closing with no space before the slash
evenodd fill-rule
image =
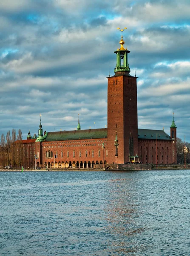
<path id="1" fill-rule="evenodd" d="M 176 125 L 163 130 L 138 129 L 136 76 L 130 75 L 123 36 L 116 53 L 114 76 L 108 77 L 108 126 L 82 130 L 43 132 L 23 140 L 25 168 L 108 168 L 113 163 L 173 164 L 177 161 Z"/>

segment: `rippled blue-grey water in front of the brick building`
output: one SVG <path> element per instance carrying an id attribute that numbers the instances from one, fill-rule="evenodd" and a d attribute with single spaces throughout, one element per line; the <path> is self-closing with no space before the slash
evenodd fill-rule
<path id="1" fill-rule="evenodd" d="M 190 170 L 0 172 L 0 256 L 190 255 Z"/>

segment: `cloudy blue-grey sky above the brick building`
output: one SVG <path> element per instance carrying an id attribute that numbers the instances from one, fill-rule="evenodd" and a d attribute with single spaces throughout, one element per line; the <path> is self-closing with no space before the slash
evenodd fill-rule
<path id="1" fill-rule="evenodd" d="M 123 32 L 138 127 L 190 142 L 189 0 L 0 1 L 0 135 L 107 125 L 107 78 Z M 94 124 L 95 122 L 95 124 Z"/>

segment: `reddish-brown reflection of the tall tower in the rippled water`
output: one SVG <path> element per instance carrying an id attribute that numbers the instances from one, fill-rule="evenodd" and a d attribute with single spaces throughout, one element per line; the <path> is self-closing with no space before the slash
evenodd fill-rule
<path id="1" fill-rule="evenodd" d="M 139 209 L 136 180 L 130 178 L 110 180 L 109 201 L 105 214 L 107 221 L 105 228 L 111 236 L 108 245 L 110 255 L 121 255 L 120 253 L 136 255 L 135 252 L 139 253 L 145 249 L 143 242 L 139 244 L 139 236 L 142 236 L 145 228 L 142 223 L 142 212 Z"/>

